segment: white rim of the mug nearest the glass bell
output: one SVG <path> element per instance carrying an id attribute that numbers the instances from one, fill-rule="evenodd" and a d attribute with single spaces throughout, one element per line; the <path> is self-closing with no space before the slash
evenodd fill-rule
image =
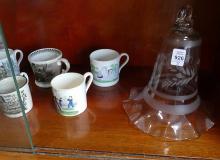
<path id="1" fill-rule="evenodd" d="M 116 57 L 114 57 L 113 59 L 110 59 L 110 60 L 97 60 L 97 58 L 95 58 L 95 56 L 97 55 L 97 54 L 100 54 L 101 52 L 105 52 L 105 53 L 109 53 L 109 52 L 111 52 L 111 53 L 114 53 L 115 55 L 116 55 Z M 106 49 L 97 49 L 97 50 L 95 50 L 95 51 L 93 51 L 90 55 L 89 55 L 89 57 L 90 57 L 90 60 L 91 61 L 95 61 L 95 62 L 99 62 L 99 63 L 106 63 L 106 62 L 112 62 L 112 61 L 115 61 L 116 59 L 118 59 L 119 58 L 119 52 L 117 52 L 116 50 L 113 50 L 113 49 L 108 49 L 108 48 L 106 48 Z"/>

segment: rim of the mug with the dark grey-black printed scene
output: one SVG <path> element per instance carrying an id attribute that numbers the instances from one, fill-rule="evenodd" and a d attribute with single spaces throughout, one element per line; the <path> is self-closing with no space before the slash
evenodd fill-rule
<path id="1" fill-rule="evenodd" d="M 52 50 L 52 51 L 56 51 L 57 53 L 59 53 L 59 55 L 53 59 L 50 59 L 50 60 L 42 60 L 42 61 L 35 61 L 35 60 L 32 60 L 31 57 L 37 53 L 37 52 L 42 52 L 42 51 L 45 51 L 45 50 Z M 63 53 L 61 50 L 57 49 L 57 48 L 40 48 L 40 49 L 37 49 L 37 50 L 34 50 L 32 51 L 29 55 L 28 55 L 28 61 L 30 63 L 34 63 L 34 64 L 45 64 L 45 63 L 54 63 L 56 62 L 57 60 L 61 59 L 63 56 Z"/>

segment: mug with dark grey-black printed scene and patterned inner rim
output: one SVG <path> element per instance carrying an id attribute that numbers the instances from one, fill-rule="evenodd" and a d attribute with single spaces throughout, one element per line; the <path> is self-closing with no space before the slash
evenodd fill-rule
<path id="1" fill-rule="evenodd" d="M 60 73 L 70 69 L 70 63 L 62 58 L 62 52 L 55 48 L 43 48 L 28 55 L 31 68 L 35 75 L 35 84 L 39 87 L 51 87 L 51 80 Z M 62 63 L 65 69 L 62 69 Z"/>

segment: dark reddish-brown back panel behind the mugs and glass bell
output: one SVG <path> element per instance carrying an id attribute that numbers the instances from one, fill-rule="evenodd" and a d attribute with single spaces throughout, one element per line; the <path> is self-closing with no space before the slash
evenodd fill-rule
<path id="1" fill-rule="evenodd" d="M 113 48 L 130 55 L 129 65 L 153 66 L 162 38 L 185 4 L 193 5 L 203 38 L 201 67 L 219 75 L 217 0 L 1 0 L 0 19 L 9 46 L 22 49 L 25 57 L 55 47 L 71 63 L 88 65 L 91 51 Z"/>

